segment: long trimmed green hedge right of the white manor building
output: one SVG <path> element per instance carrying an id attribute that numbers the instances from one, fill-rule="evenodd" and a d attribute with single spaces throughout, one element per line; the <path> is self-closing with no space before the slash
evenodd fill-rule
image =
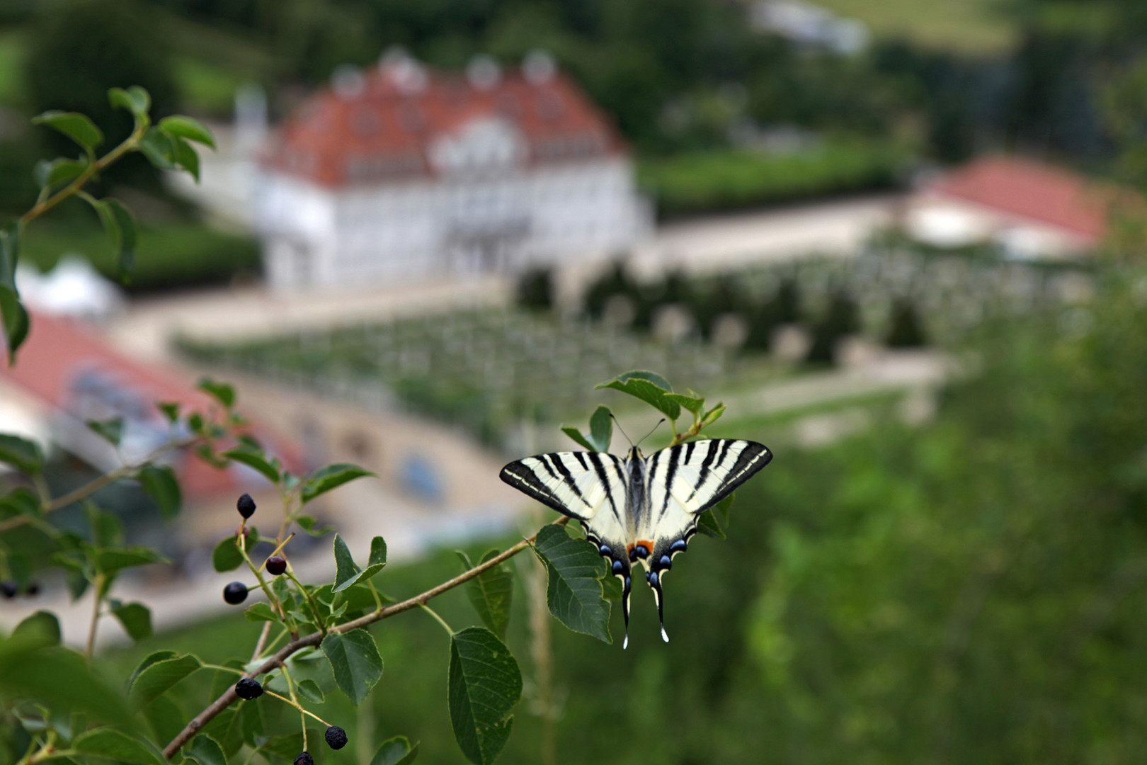
<path id="1" fill-rule="evenodd" d="M 720 149 L 638 164 L 638 182 L 673 217 L 887 188 L 907 153 L 890 142 L 838 140 L 799 154 Z"/>

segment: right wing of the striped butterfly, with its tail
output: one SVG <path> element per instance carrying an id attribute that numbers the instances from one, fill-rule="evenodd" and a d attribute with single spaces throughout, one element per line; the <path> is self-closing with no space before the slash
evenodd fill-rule
<path id="1" fill-rule="evenodd" d="M 661 637 L 668 642 L 661 580 L 688 548 L 701 513 L 713 507 L 773 459 L 751 440 L 712 438 L 663 448 L 646 460 L 648 505 L 637 520 L 638 553 L 657 600 Z"/>

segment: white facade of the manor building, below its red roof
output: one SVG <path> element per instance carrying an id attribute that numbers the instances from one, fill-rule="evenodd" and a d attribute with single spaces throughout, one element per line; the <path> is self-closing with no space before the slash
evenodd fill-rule
<path id="1" fill-rule="evenodd" d="M 434 136 L 429 172 L 413 178 L 379 179 L 392 169 L 354 154 L 338 187 L 265 165 L 255 198 L 267 279 L 282 290 L 366 287 L 630 249 L 653 228 L 631 163 L 602 151 L 577 158 L 577 148 L 539 161 L 513 122 L 476 115 Z"/>

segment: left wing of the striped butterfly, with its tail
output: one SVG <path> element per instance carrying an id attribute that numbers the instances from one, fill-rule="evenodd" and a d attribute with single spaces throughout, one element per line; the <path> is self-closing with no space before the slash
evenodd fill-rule
<path id="1" fill-rule="evenodd" d="M 629 551 L 633 547 L 634 524 L 625 489 L 625 463 L 603 452 L 554 452 L 510 462 L 500 477 L 543 505 L 582 522 L 586 538 L 622 580 L 629 643 Z"/>

